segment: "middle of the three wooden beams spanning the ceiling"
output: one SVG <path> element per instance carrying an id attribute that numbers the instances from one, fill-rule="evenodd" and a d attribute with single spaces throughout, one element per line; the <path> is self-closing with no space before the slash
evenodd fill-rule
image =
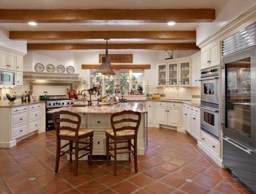
<path id="1" fill-rule="evenodd" d="M 196 31 L 10 31 L 12 40 L 126 39 L 195 40 Z"/>

